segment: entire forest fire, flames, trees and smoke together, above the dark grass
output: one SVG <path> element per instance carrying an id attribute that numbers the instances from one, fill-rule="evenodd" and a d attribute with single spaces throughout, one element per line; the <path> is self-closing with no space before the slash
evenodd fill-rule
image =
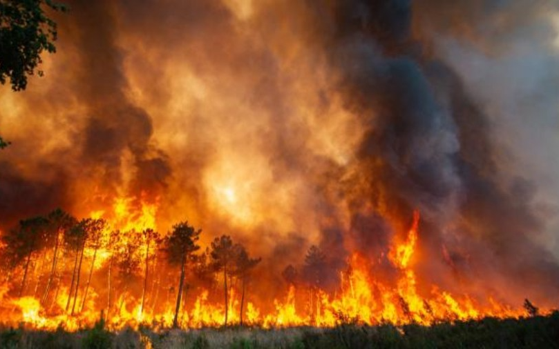
<path id="1" fill-rule="evenodd" d="M 1 86 L 1 325 L 431 326 L 559 306 L 549 8 L 68 2 L 46 76 Z"/>

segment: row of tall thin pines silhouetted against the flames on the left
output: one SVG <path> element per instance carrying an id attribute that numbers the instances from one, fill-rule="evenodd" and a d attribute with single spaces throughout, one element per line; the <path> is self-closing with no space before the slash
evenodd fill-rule
<path id="1" fill-rule="evenodd" d="M 222 278 L 224 325 L 227 325 L 234 281 L 240 283 L 242 325 L 246 284 L 260 258 L 251 257 L 243 245 L 227 235 L 217 237 L 209 248 L 200 252 L 201 232 L 187 221 L 176 223 L 164 236 L 152 229 L 110 230 L 104 219 L 78 220 L 56 209 L 45 216 L 23 219 L 0 237 L 1 266 L 6 275 L 3 283 L 10 284 L 10 292 L 17 297 L 39 299 L 46 312 L 55 311 L 53 308 L 64 290 L 66 299 L 59 308 L 73 316 L 86 308 L 92 275 L 97 272 L 97 285 L 104 283 L 100 279 L 106 278 L 106 305 L 102 308 L 110 319 L 113 312 L 120 312 L 132 283 L 138 284 L 138 281 L 142 283 L 140 317 L 147 307 L 148 293 L 152 295 L 151 310 L 154 311 L 164 281 L 161 275 L 151 277 L 150 273 L 175 275 L 176 282 L 171 281 L 167 297 L 176 290 L 173 318 L 176 327 L 184 289 L 189 286 L 185 285 L 187 275 L 202 284 Z M 89 265 L 83 270 L 86 260 Z M 21 281 L 14 280 L 17 272 L 21 273 Z"/>

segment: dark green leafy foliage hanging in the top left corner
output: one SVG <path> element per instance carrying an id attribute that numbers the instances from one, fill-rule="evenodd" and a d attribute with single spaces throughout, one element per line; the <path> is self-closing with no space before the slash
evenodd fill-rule
<path id="1" fill-rule="evenodd" d="M 12 90 L 25 90 L 28 75 L 41 63 L 41 53 L 56 51 L 57 26 L 46 8 L 66 10 L 51 0 L 0 1 L 0 83 L 10 79 Z"/>

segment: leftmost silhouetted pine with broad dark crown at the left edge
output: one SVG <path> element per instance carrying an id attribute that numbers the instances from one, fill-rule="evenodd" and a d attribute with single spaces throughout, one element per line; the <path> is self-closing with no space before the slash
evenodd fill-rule
<path id="1" fill-rule="evenodd" d="M 6 246 L 4 253 L 8 256 L 12 266 L 23 263 L 23 278 L 19 288 L 18 297 L 23 295 L 26 286 L 29 266 L 35 252 L 41 248 L 46 238 L 48 221 L 44 217 L 33 217 L 19 222 L 19 226 L 10 230 L 7 235 L 1 237 Z"/>

